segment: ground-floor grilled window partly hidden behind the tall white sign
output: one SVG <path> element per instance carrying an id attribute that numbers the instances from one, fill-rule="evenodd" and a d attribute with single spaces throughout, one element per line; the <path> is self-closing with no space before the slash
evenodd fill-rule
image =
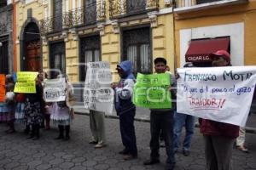
<path id="1" fill-rule="evenodd" d="M 101 39 L 99 35 L 83 37 L 80 40 L 79 54 L 80 81 L 84 82 L 86 77 L 86 64 L 88 62 L 101 60 Z"/>

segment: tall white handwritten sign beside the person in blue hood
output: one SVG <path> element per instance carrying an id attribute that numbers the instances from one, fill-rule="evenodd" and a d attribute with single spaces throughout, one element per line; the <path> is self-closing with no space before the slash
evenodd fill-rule
<path id="1" fill-rule="evenodd" d="M 84 83 L 84 107 L 111 115 L 113 112 L 111 82 L 112 75 L 108 62 L 89 62 Z"/>

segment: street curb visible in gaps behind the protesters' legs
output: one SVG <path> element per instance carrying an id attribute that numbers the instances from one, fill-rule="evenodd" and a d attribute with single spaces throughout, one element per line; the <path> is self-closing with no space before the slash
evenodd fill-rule
<path id="1" fill-rule="evenodd" d="M 89 113 L 79 112 L 79 111 L 76 111 L 75 114 L 85 115 L 85 116 L 89 116 L 90 115 Z M 105 117 L 106 118 L 110 118 L 110 119 L 119 119 L 119 116 L 105 115 Z M 135 117 L 134 119 L 135 119 L 136 122 L 150 122 L 148 119 L 143 119 L 143 118 Z M 195 123 L 195 127 L 199 128 L 199 123 Z M 246 129 L 247 133 L 255 133 L 256 134 L 256 128 L 254 128 L 254 127 L 245 127 L 245 129 Z"/>

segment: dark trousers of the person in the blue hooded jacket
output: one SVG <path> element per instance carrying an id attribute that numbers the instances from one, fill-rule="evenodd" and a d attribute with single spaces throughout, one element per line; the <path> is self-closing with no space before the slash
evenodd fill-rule
<path id="1" fill-rule="evenodd" d="M 135 109 L 119 115 L 120 132 L 125 150 L 132 156 L 137 156 L 136 135 L 134 129 Z"/>

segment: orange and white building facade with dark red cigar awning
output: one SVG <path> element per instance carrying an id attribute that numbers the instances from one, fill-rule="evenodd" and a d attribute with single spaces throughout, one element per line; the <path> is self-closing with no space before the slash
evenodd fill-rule
<path id="1" fill-rule="evenodd" d="M 232 65 L 256 65 L 256 1 L 177 0 L 174 8 L 177 66 L 209 66 L 208 54 L 225 49 Z"/>

